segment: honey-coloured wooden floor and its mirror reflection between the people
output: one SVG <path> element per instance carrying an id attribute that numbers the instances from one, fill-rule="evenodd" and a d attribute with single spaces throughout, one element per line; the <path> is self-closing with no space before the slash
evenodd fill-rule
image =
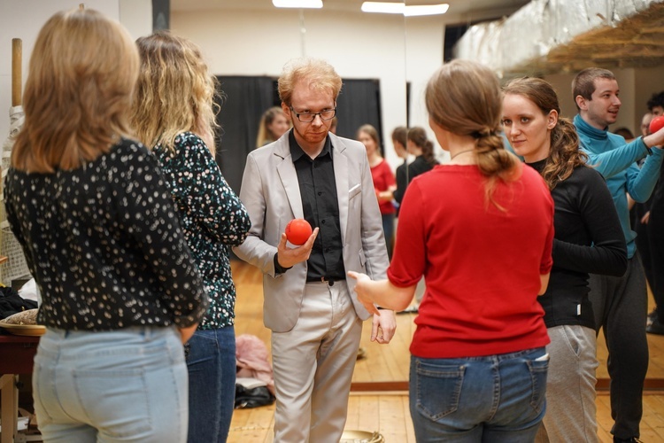
<path id="1" fill-rule="evenodd" d="M 232 267 L 237 287 L 235 333 L 255 335 L 269 350 L 270 331 L 263 326 L 262 318 L 262 276 L 258 269 L 242 261 L 233 261 Z M 413 314 L 397 315 L 397 334 L 388 346 L 371 343 L 368 339 L 371 323 L 364 323 L 360 346 L 365 348 L 367 357 L 359 360 L 355 368 L 346 429 L 380 431 L 388 443 L 415 441 L 405 387 L 410 359 L 408 346 L 414 332 L 413 318 Z M 648 345 L 650 365 L 641 439 L 658 442 L 664 441 L 664 336 L 648 335 Z M 613 422 L 606 392 L 606 346 L 601 335 L 598 338 L 598 360 L 598 434 L 602 442 L 611 442 L 609 430 Z M 272 441 L 273 416 L 274 406 L 236 410 L 228 441 Z"/>

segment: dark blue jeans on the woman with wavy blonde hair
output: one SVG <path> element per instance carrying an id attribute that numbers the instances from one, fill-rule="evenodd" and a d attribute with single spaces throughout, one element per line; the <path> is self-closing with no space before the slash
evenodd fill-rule
<path id="1" fill-rule="evenodd" d="M 185 345 L 189 443 L 225 442 L 235 406 L 235 330 L 197 330 Z"/>

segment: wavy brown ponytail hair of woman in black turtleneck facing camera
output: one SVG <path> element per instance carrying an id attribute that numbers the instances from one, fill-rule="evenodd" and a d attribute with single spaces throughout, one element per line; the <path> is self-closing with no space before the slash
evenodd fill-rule
<path id="1" fill-rule="evenodd" d="M 585 165 L 588 156 L 579 150 L 579 136 L 570 120 L 560 117 L 558 96 L 549 82 L 534 77 L 522 77 L 508 82 L 503 88 L 505 94 L 528 98 L 544 115 L 552 110 L 559 114 L 556 126 L 551 130 L 549 156 L 542 170 L 544 182 L 552 190 L 569 175 L 575 167 Z"/>

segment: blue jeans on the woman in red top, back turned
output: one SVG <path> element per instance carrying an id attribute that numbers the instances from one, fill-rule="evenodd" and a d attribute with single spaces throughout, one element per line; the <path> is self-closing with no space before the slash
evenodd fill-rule
<path id="1" fill-rule="evenodd" d="M 544 347 L 458 359 L 411 357 L 410 408 L 418 443 L 531 442 L 544 417 Z"/>

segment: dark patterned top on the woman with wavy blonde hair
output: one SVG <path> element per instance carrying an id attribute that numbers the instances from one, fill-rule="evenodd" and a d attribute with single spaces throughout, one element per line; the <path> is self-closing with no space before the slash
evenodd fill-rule
<path id="1" fill-rule="evenodd" d="M 242 245 L 247 237 L 249 214 L 196 134 L 175 137 L 174 152 L 160 145 L 153 152 L 180 210 L 187 244 L 210 296 L 210 308 L 198 328 L 230 326 L 235 323 L 235 284 L 228 248 Z"/>

